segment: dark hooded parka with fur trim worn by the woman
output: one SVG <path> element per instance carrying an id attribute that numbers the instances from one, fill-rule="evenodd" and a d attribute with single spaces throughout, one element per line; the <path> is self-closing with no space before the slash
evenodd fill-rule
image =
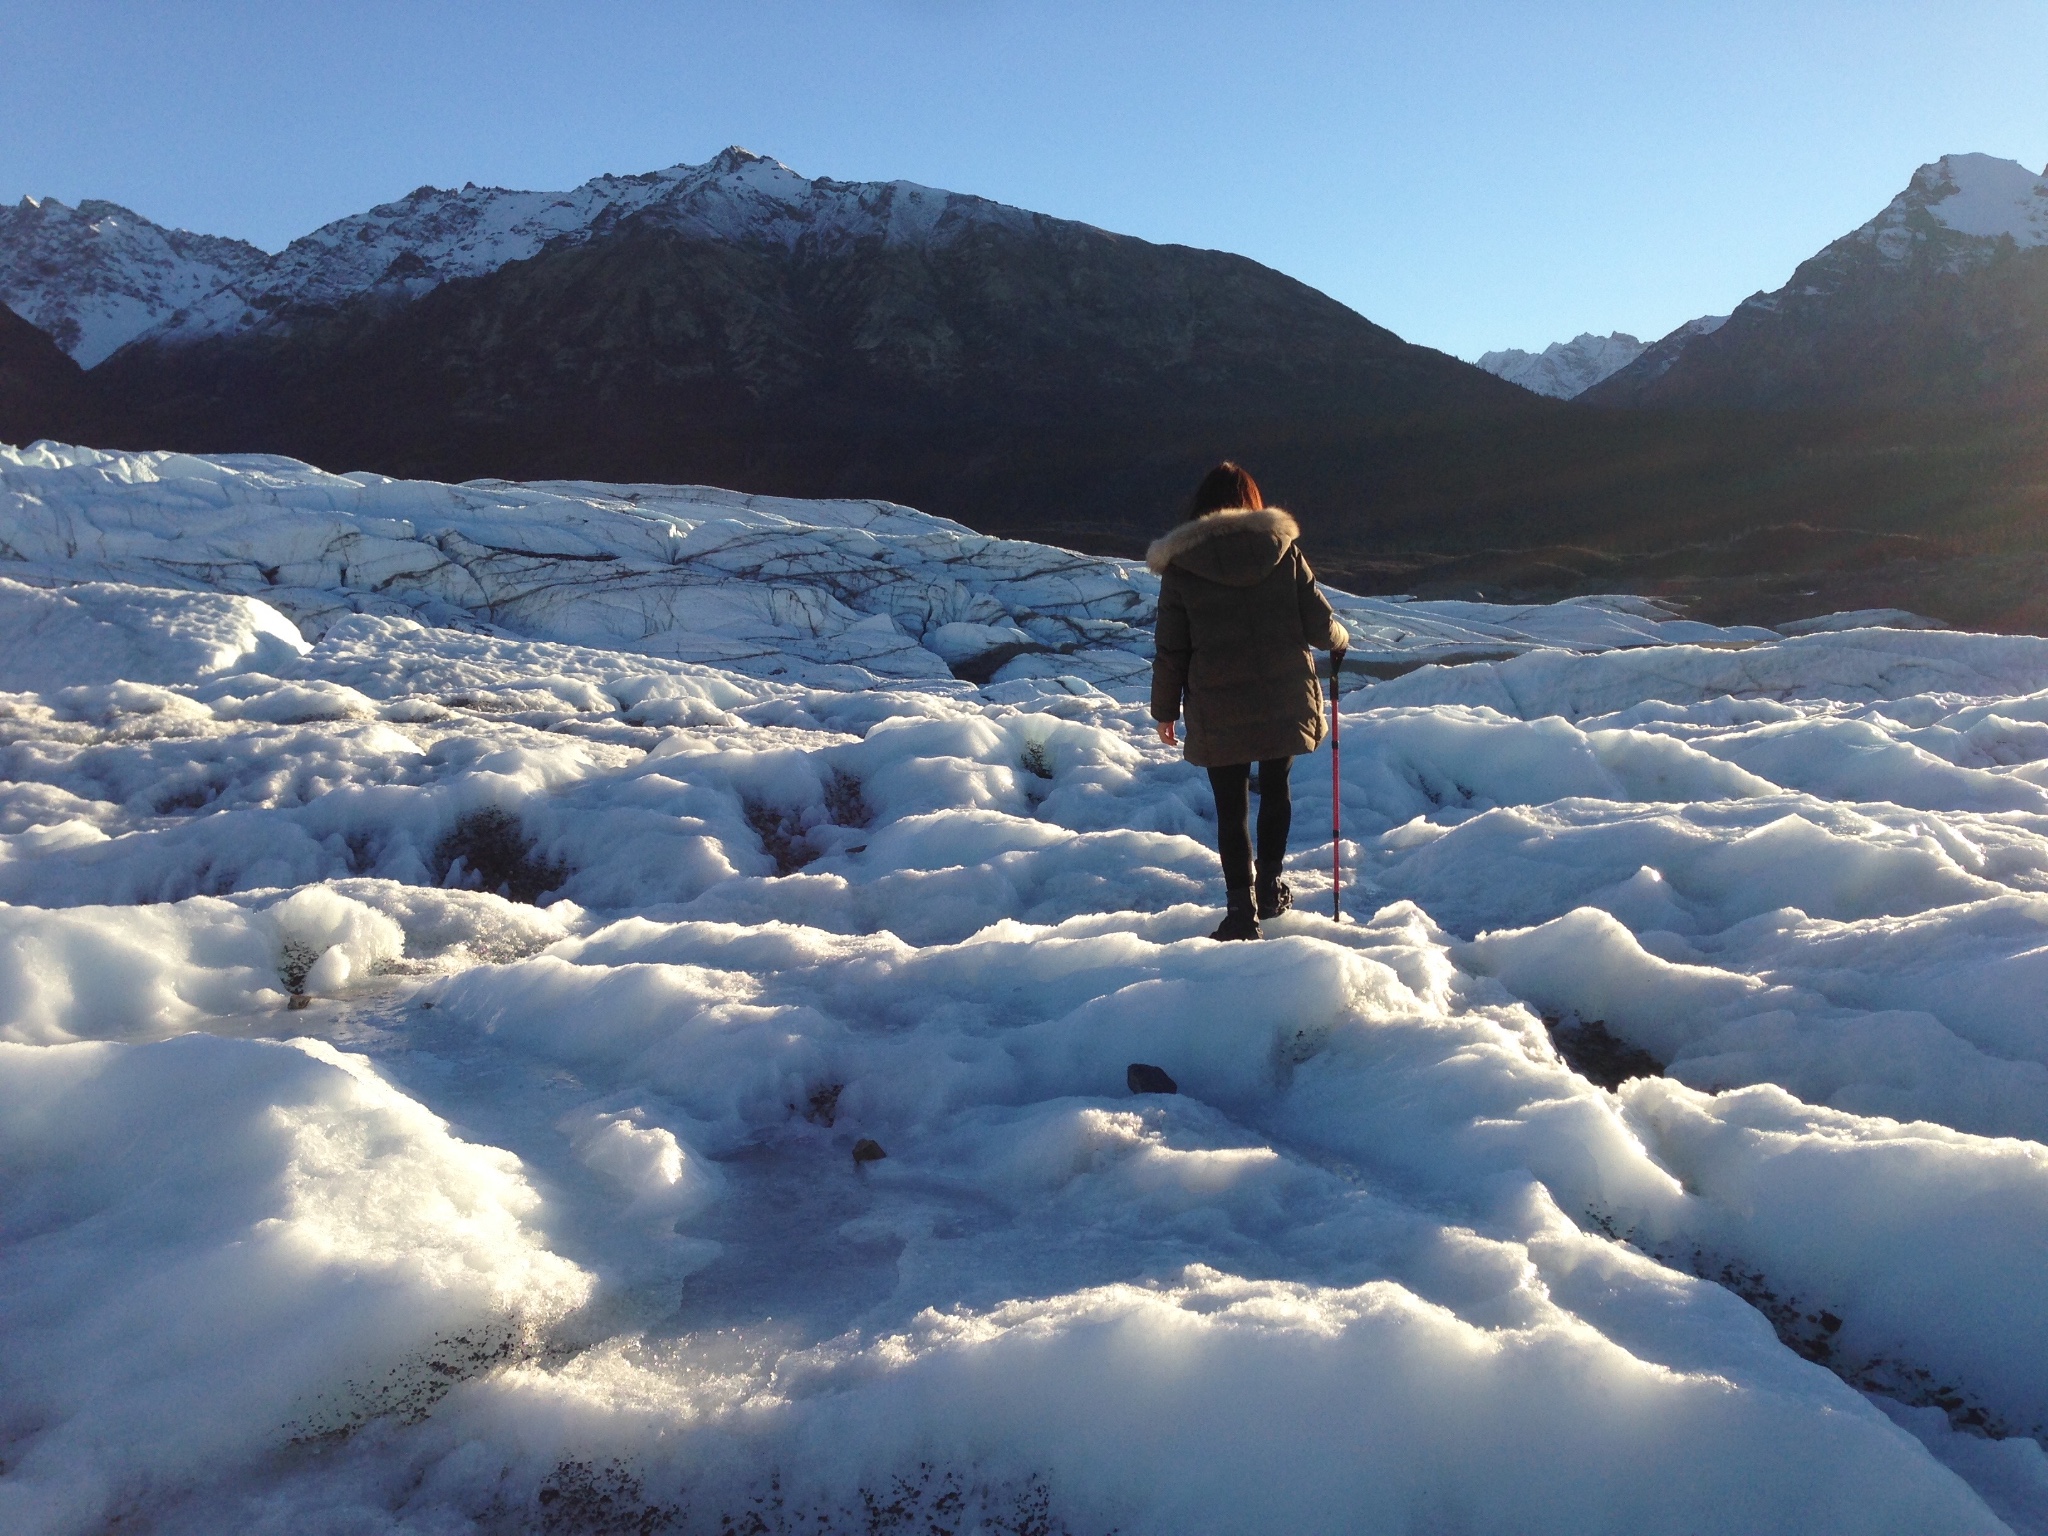
<path id="1" fill-rule="evenodd" d="M 1159 573 L 1153 719 L 1188 715 L 1188 762 L 1223 768 L 1315 752 L 1317 651 L 1350 641 L 1276 506 L 1182 522 L 1145 551 Z"/>

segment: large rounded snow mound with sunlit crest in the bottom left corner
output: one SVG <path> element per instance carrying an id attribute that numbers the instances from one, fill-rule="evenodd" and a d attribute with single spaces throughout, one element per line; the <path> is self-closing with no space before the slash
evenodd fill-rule
<path id="1" fill-rule="evenodd" d="M 8 1530 L 424 1417 L 590 1292 L 518 1159 L 317 1040 L 0 1044 L 0 1161 Z"/>

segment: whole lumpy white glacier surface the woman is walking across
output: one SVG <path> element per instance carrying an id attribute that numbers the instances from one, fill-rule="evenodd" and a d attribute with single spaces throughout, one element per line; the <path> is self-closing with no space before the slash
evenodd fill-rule
<path id="1" fill-rule="evenodd" d="M 1317 756 L 1212 944 L 1135 563 L 57 444 L 0 557 L 8 1530 L 2048 1530 L 2048 641 L 1333 594 L 1350 913 Z"/>

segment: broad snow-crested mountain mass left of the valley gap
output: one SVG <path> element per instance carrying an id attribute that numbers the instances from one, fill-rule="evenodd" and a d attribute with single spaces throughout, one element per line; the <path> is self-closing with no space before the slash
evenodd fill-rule
<path id="1" fill-rule="evenodd" d="M 571 193 L 420 188 L 197 299 L 219 250 L 106 225 L 80 258 L 82 211 L 16 209 L 0 297 L 68 317 L 82 362 L 133 330 L 86 375 L 86 428 L 127 442 L 1085 532 L 1155 526 L 1221 453 L 1536 410 L 1243 256 L 745 150 Z"/>

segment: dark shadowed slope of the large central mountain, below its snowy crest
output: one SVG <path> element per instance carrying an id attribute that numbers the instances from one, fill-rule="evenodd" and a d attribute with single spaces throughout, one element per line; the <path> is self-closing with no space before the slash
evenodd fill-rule
<path id="1" fill-rule="evenodd" d="M 1241 256 L 1036 215 L 823 250 L 635 217 L 418 299 L 137 342 L 94 387 L 135 442 L 1100 528 L 1237 444 L 1559 410 Z"/>

